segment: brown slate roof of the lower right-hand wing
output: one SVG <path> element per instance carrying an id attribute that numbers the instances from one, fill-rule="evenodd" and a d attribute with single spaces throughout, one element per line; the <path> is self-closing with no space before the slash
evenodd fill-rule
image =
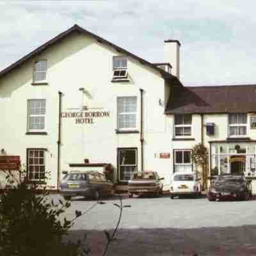
<path id="1" fill-rule="evenodd" d="M 256 84 L 180 87 L 168 99 L 166 114 L 256 112 Z"/>

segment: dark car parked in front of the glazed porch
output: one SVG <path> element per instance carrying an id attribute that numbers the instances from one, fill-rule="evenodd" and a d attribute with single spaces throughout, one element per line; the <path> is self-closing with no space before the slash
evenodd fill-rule
<path id="1" fill-rule="evenodd" d="M 251 196 L 251 180 L 246 180 L 243 175 L 223 174 L 211 184 L 207 198 L 209 201 L 221 198 L 248 200 Z"/>

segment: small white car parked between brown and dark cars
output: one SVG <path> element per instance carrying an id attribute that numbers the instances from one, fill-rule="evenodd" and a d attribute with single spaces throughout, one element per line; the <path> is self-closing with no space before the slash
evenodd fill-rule
<path id="1" fill-rule="evenodd" d="M 201 195 L 200 179 L 192 172 L 174 173 L 171 180 L 170 197 L 177 195 Z"/>

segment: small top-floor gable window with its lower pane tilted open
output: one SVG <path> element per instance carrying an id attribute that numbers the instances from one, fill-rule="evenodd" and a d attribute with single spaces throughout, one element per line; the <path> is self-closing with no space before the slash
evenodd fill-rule
<path id="1" fill-rule="evenodd" d="M 127 58 L 113 56 L 113 79 L 127 79 Z"/>

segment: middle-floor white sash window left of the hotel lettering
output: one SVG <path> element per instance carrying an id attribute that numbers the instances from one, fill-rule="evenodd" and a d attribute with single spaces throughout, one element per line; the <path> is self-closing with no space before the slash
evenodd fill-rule
<path id="1" fill-rule="evenodd" d="M 45 130 L 45 99 L 28 100 L 28 131 Z"/>

